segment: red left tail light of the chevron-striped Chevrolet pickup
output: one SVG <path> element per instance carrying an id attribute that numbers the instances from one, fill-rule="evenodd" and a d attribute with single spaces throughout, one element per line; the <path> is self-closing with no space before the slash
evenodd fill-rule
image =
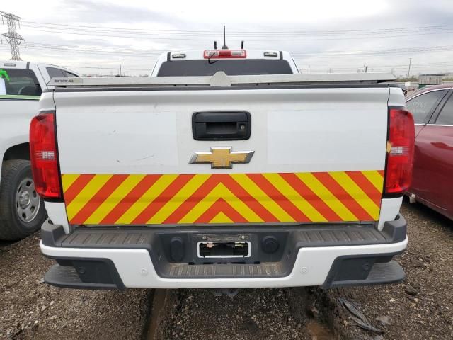
<path id="1" fill-rule="evenodd" d="M 30 158 L 36 192 L 42 198 L 61 199 L 54 113 L 42 113 L 31 121 Z"/>

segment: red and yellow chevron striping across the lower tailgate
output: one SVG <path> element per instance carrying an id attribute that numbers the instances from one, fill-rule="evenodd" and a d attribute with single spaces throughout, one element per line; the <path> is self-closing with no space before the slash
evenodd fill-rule
<path id="1" fill-rule="evenodd" d="M 62 175 L 74 225 L 379 219 L 384 171 Z"/>

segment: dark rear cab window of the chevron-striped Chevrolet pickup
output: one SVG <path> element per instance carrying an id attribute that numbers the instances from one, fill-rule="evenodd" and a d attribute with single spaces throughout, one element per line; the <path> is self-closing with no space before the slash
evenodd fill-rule
<path id="1" fill-rule="evenodd" d="M 212 76 L 223 71 L 230 76 L 252 74 L 292 74 L 286 60 L 176 60 L 164 62 L 158 77 Z"/>

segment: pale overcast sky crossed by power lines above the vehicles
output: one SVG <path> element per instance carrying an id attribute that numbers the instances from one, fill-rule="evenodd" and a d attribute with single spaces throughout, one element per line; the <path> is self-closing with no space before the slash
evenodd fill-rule
<path id="1" fill-rule="evenodd" d="M 223 25 L 230 48 L 288 50 L 304 73 L 407 74 L 409 58 L 411 74 L 453 72 L 452 0 L 16 0 L 0 11 L 22 18 L 23 60 L 81 74 L 117 74 L 120 59 L 147 74 L 161 52 L 212 48 Z"/>

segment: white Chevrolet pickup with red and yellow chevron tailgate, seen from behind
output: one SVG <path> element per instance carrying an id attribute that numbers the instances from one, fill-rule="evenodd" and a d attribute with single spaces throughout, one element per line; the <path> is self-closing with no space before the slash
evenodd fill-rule
<path id="1" fill-rule="evenodd" d="M 414 125 L 382 74 L 295 74 L 287 52 L 168 53 L 149 78 L 59 78 L 30 126 L 67 288 L 402 280 Z"/>

